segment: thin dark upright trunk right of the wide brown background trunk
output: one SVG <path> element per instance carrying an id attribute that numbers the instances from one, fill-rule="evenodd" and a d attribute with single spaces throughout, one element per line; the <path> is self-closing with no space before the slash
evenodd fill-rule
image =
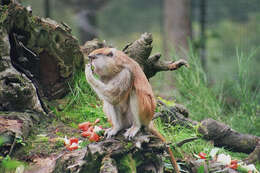
<path id="1" fill-rule="evenodd" d="M 200 0 L 200 58 L 202 68 L 207 71 L 206 60 L 206 15 L 207 15 L 207 2 Z"/>

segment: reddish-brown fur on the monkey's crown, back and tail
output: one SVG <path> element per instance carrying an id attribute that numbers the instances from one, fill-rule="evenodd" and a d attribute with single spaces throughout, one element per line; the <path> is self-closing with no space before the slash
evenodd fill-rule
<path id="1" fill-rule="evenodd" d="M 99 53 L 107 55 L 110 52 L 110 48 L 101 48 L 93 51 L 91 55 Z M 123 52 L 116 50 L 116 52 L 114 52 L 114 56 L 114 58 L 116 58 L 117 64 L 113 66 L 113 69 L 111 69 L 111 71 L 117 73 L 122 68 L 129 68 L 133 74 L 133 84 L 132 87 L 129 89 L 129 92 L 131 92 L 131 89 L 136 91 L 136 95 L 138 98 L 137 100 L 139 119 L 141 124 L 148 127 L 154 135 L 158 136 L 164 143 L 166 143 L 165 138 L 156 130 L 156 128 L 153 126 L 153 123 L 151 123 L 156 108 L 156 101 L 153 95 L 152 87 L 149 84 L 144 72 L 142 71 L 141 67 L 137 64 L 137 62 L 129 58 Z M 129 94 L 130 93 L 127 93 L 126 97 L 129 97 Z M 174 166 L 175 171 L 179 173 L 178 165 L 170 147 L 167 147 L 167 152 L 170 154 L 171 163 Z"/>

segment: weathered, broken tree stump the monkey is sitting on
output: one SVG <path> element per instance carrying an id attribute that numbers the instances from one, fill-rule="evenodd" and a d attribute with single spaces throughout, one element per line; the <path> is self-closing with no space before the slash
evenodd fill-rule
<path id="1" fill-rule="evenodd" d="M 138 133 L 132 141 L 119 134 L 80 150 L 35 159 L 26 172 L 162 173 L 164 151 L 165 145 L 149 133 Z"/>

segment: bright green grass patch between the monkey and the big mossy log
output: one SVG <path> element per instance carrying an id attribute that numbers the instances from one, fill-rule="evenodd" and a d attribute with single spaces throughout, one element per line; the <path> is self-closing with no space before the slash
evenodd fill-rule
<path id="1" fill-rule="evenodd" d="M 85 74 L 83 72 L 76 74 L 70 85 L 71 92 L 66 97 L 65 108 L 62 111 L 55 110 L 59 119 L 65 123 L 69 122 L 75 128 L 78 123 L 94 122 L 96 118 L 101 119 L 101 124 L 106 124 L 101 101 L 87 83 Z"/>

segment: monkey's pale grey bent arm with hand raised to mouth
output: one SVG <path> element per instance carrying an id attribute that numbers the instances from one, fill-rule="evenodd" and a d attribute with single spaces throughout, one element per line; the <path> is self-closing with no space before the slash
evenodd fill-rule
<path id="1" fill-rule="evenodd" d="M 106 100 L 112 105 L 118 104 L 130 91 L 132 84 L 132 73 L 124 68 L 107 84 L 96 79 L 91 70 L 91 66 L 85 66 L 85 74 L 88 83 L 96 91 L 101 99 Z"/>

